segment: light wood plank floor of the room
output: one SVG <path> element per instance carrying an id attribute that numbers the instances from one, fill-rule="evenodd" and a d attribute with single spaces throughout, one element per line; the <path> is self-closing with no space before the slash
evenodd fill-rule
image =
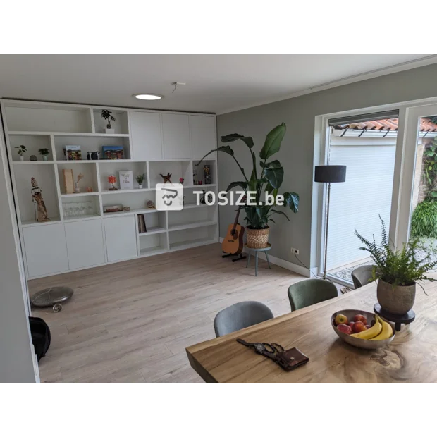
<path id="1" fill-rule="evenodd" d="M 253 261 L 251 261 L 252 264 Z M 290 311 L 287 289 L 303 279 L 259 261 L 221 258 L 219 244 L 29 281 L 30 294 L 75 290 L 57 314 L 34 309 L 51 329 L 39 362 L 45 383 L 200 383 L 185 347 L 214 338 L 214 316 L 243 300 Z"/>

